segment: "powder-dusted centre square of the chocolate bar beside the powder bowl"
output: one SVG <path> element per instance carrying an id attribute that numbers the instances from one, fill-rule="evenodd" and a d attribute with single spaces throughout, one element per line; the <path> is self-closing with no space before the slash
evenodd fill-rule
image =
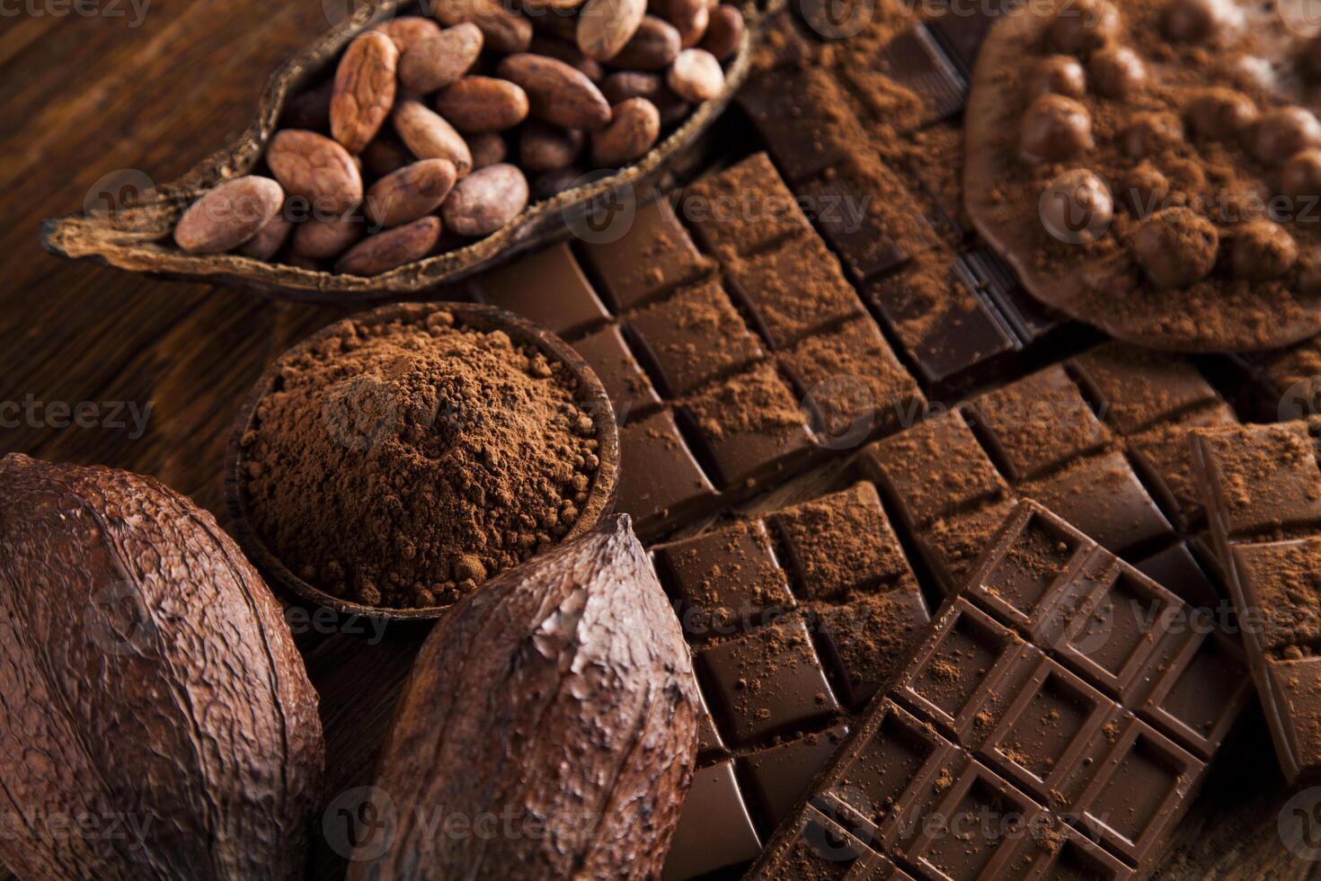
<path id="1" fill-rule="evenodd" d="M 715 280 L 683 288 L 631 313 L 627 328 L 638 354 L 647 359 L 670 396 L 728 376 L 762 357 L 757 337 Z"/>

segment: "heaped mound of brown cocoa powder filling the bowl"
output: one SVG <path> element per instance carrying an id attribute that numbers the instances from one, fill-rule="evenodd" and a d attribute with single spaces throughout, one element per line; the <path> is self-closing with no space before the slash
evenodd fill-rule
<path id="1" fill-rule="evenodd" d="M 252 522 L 337 597 L 454 602 L 576 522 L 600 462 L 575 388 L 563 365 L 449 312 L 346 320 L 287 357 L 256 407 Z"/>

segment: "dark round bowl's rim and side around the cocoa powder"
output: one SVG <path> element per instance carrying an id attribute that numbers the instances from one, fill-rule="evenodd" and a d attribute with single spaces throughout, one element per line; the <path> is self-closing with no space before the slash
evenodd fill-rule
<path id="1" fill-rule="evenodd" d="M 398 318 L 416 321 L 435 312 L 449 312 L 454 316 L 454 322 L 461 326 L 478 330 L 503 330 L 515 345 L 535 349 L 543 353 L 551 362 L 564 365 L 569 375 L 577 380 L 577 391 L 573 400 L 592 416 L 596 424 L 596 440 L 600 444 L 597 456 L 601 464 L 597 468 L 596 477 L 592 479 L 592 487 L 588 490 L 588 499 L 583 505 L 579 519 L 560 540 L 571 542 L 585 534 L 614 509 L 614 494 L 620 474 L 620 433 L 614 419 L 614 408 L 610 405 L 610 399 L 605 394 L 601 380 L 568 343 L 550 330 L 495 306 L 468 302 L 403 302 L 380 306 L 371 312 L 358 313 L 342 321 L 336 321 L 288 349 L 256 380 L 244 399 L 238 417 L 234 420 L 225 462 L 225 494 L 229 502 L 232 532 L 247 552 L 248 559 L 252 560 L 258 569 L 275 586 L 284 588 L 308 602 L 334 609 L 341 614 L 384 621 L 428 621 L 439 618 L 449 608 L 392 609 L 388 606 L 369 606 L 332 596 L 296 576 L 267 547 L 266 540 L 258 532 L 256 526 L 248 515 L 247 494 L 244 491 L 244 460 L 240 445 L 243 435 L 252 427 L 258 402 L 271 390 L 280 366 L 289 358 L 305 353 L 322 339 L 334 337 L 343 321 L 371 325 L 387 324 Z"/>

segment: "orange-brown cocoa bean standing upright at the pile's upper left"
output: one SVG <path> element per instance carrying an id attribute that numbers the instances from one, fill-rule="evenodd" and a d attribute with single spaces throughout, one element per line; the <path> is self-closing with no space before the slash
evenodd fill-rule
<path id="1" fill-rule="evenodd" d="M 350 153 L 361 153 L 390 116 L 398 63 L 395 41 L 378 30 L 350 42 L 339 59 L 330 96 L 330 135 Z"/>

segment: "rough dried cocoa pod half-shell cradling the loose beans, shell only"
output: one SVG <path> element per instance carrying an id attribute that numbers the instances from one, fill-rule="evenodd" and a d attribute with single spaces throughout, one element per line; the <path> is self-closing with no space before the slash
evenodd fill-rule
<path id="1" fill-rule="evenodd" d="M 345 22 L 285 62 L 267 82 L 256 120 L 234 144 L 202 160 L 181 178 L 159 185 L 143 205 L 48 219 L 41 227 L 41 243 L 46 251 L 63 258 L 94 260 L 168 279 L 231 284 L 280 300 L 345 304 L 421 293 L 559 238 L 571 219 L 585 218 L 593 199 L 624 188 L 638 190 L 655 184 L 667 165 L 728 107 L 748 74 L 752 49 L 769 15 L 782 3 L 770 0 L 758 5 L 757 0 L 752 0 L 744 7 L 748 26 L 738 52 L 727 65 L 724 91 L 694 110 L 683 124 L 641 160 L 584 186 L 528 205 L 507 226 L 485 239 L 378 276 L 303 269 L 239 254 L 192 255 L 176 248 L 169 239 L 180 215 L 197 197 L 223 181 L 247 174 L 258 165 L 292 95 L 336 63 L 345 46 L 359 33 L 396 12 L 407 12 L 411 4 L 399 0 L 380 0 L 358 8 Z"/>

